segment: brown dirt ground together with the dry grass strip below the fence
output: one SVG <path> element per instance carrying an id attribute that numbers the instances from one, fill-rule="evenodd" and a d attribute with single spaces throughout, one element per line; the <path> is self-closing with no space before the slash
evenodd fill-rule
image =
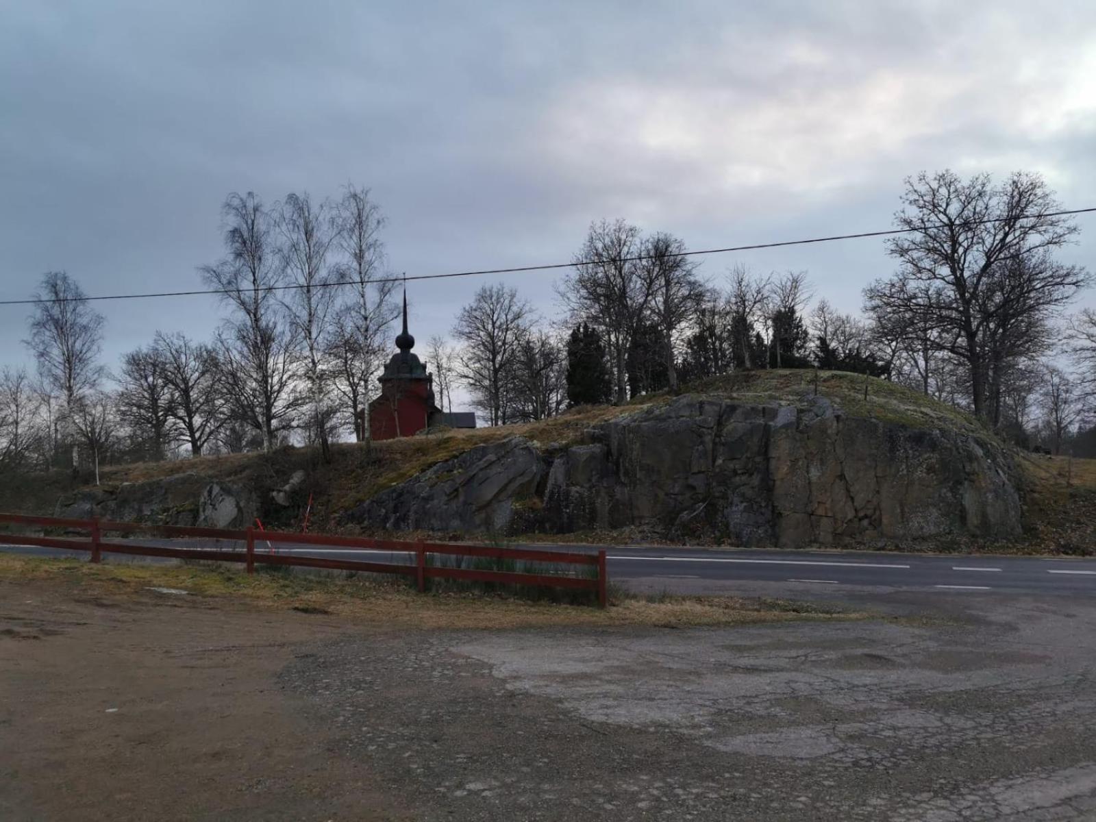
<path id="1" fill-rule="evenodd" d="M 336 751 L 338 729 L 312 705 L 323 684 L 282 681 L 295 662 L 346 641 L 398 657 L 439 630 L 824 617 L 789 606 L 700 597 L 603 612 L 420 597 L 364 579 L 0 556 L 0 820 L 420 819 L 421 796 L 409 801 L 374 764 Z M 389 697 L 411 687 L 397 677 Z"/>

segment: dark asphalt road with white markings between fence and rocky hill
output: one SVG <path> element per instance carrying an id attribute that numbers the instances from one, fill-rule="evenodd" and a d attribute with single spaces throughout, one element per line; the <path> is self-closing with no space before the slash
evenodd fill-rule
<path id="1" fill-rule="evenodd" d="M 151 540 L 186 547 L 213 547 L 199 540 Z M 218 546 L 225 549 L 224 543 Z M 262 553 L 264 548 L 256 546 Z M 539 549 L 596 550 L 596 546 L 536 545 Z M 48 548 L 0 546 L 37 556 L 66 556 Z M 276 549 L 279 553 L 404 562 L 409 555 L 389 551 L 324 549 L 313 546 Z M 717 550 L 688 548 L 609 548 L 609 579 L 641 583 L 646 590 L 724 592 L 739 582 L 786 583 L 804 587 L 911 589 L 952 593 L 1096 594 L 1096 559 L 1008 556 L 933 556 L 866 551 Z M 125 561 L 123 555 L 104 555 Z M 134 558 L 147 562 L 152 558 Z M 170 561 L 170 560 L 168 560 Z"/>

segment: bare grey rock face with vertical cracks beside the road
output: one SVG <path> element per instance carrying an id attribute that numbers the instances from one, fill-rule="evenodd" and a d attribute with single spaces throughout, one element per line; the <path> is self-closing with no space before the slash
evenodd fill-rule
<path id="1" fill-rule="evenodd" d="M 585 442 L 481 446 L 352 511 L 387 528 L 638 526 L 798 547 L 1020 529 L 1012 463 L 989 436 L 800 406 L 686 396 L 594 426 Z M 520 513 L 520 516 L 516 514 Z"/>

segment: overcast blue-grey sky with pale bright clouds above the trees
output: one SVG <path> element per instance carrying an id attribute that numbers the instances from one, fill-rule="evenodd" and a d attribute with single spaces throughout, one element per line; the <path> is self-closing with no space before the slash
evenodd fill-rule
<path id="1" fill-rule="evenodd" d="M 1038 171 L 1096 206 L 1092 0 L 0 0 L 0 298 L 49 270 L 92 295 L 199 287 L 232 191 L 369 186 L 409 275 L 566 262 L 602 217 L 695 249 L 883 229 L 920 170 Z M 1080 225 L 1062 256 L 1092 270 Z M 734 262 L 807 270 L 845 310 L 893 270 L 878 240 L 703 270 Z M 553 316 L 556 278 L 509 282 Z M 412 285 L 419 340 L 479 285 Z M 220 311 L 96 307 L 112 366 Z M 27 313 L 0 306 L 0 365 L 26 361 Z"/>

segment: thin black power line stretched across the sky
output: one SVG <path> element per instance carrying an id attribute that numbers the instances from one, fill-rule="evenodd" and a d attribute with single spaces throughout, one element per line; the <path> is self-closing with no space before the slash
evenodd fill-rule
<path id="1" fill-rule="evenodd" d="M 1072 214 L 1091 214 L 1096 212 L 1096 207 L 1093 208 L 1071 208 L 1064 212 L 1050 212 L 1048 214 L 1032 215 L 1034 217 L 1065 217 Z M 957 228 L 968 228 L 971 226 L 984 226 L 991 222 L 1007 222 L 1008 220 L 1016 219 L 1015 217 L 992 217 L 982 220 L 970 220 L 967 222 L 956 224 Z M 1027 219 L 1021 217 L 1019 219 Z M 661 254 L 660 258 L 675 258 L 675 256 L 699 256 L 701 254 L 726 254 L 730 251 L 758 251 L 761 249 L 778 249 L 786 246 L 810 246 L 817 242 L 833 242 L 835 240 L 860 240 L 868 237 L 889 237 L 893 235 L 905 235 L 913 233 L 915 231 L 928 231 L 936 228 L 947 228 L 947 224 L 937 224 L 934 226 L 915 226 L 913 228 L 892 228 L 886 231 L 861 231 L 855 235 L 833 235 L 831 237 L 813 237 L 806 240 L 784 240 L 780 242 L 760 242 L 752 246 L 729 246 L 721 249 L 704 249 L 701 251 L 678 251 L 673 254 Z M 604 263 L 631 263 L 641 262 L 643 260 L 653 260 L 654 256 L 651 254 L 637 254 L 635 256 L 624 256 L 619 259 L 607 259 L 607 260 L 594 260 L 590 262 L 570 262 L 570 263 L 547 263 L 544 265 L 520 265 L 512 269 L 481 269 L 478 271 L 458 271 L 448 274 L 418 274 L 413 276 L 407 276 L 406 274 L 398 277 L 380 277 L 377 279 L 369 279 L 368 283 L 406 283 L 408 281 L 414 279 L 448 279 L 452 277 L 476 277 L 482 276 L 484 274 L 521 274 L 522 272 L 528 271 L 553 271 L 559 269 L 574 269 L 581 265 L 602 265 Z M 347 285 L 361 285 L 361 281 L 357 279 L 345 279 L 333 283 L 313 283 L 311 286 L 305 286 L 299 284 L 292 285 L 272 285 L 259 288 L 260 292 L 288 292 L 298 290 L 301 288 L 312 287 L 328 287 L 335 288 Z M 241 293 L 251 293 L 251 288 L 241 288 Z M 4 299 L 0 300 L 0 306 L 26 306 L 26 305 L 38 305 L 41 302 L 70 302 L 70 301 L 82 301 L 82 300 L 107 300 L 107 299 L 150 299 L 153 297 L 197 297 L 206 295 L 227 295 L 236 294 L 237 289 L 231 288 L 210 288 L 206 290 L 194 290 L 194 292 L 159 292 L 156 294 L 112 294 L 103 295 L 99 297 L 59 297 L 55 299 Z"/>

